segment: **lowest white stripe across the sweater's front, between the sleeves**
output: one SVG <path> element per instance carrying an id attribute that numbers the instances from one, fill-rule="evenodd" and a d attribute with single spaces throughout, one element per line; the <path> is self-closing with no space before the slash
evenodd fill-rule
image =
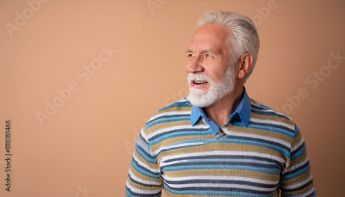
<path id="1" fill-rule="evenodd" d="M 258 178 L 248 178 L 243 176 L 183 176 L 183 177 L 169 177 L 164 176 L 164 180 L 170 181 L 179 181 L 179 180 L 242 180 L 242 181 L 249 181 L 253 183 L 264 183 L 264 184 L 271 184 L 275 185 L 279 183 L 279 180 L 271 181 L 271 180 L 263 180 Z"/>

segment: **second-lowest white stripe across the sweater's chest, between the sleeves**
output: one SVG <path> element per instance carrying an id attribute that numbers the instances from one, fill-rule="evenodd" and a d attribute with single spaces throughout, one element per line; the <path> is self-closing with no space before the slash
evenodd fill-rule
<path id="1" fill-rule="evenodd" d="M 270 155 L 270 154 L 263 154 L 259 152 L 240 152 L 240 151 L 211 151 L 211 152 L 194 152 L 188 154 L 178 154 L 173 156 L 164 156 L 161 158 L 161 163 L 165 162 L 168 159 L 173 158 L 181 158 L 181 157 L 188 157 L 188 156 L 214 156 L 214 155 L 227 155 L 227 156 L 259 156 L 262 158 L 270 158 L 279 161 L 280 163 L 286 163 L 283 158 L 278 156 Z"/>

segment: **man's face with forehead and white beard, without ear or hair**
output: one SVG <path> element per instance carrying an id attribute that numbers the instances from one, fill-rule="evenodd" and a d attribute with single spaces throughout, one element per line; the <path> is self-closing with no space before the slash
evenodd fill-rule
<path id="1" fill-rule="evenodd" d="M 203 25 L 193 34 L 186 71 L 187 98 L 195 106 L 208 107 L 235 89 L 237 72 L 230 65 L 229 32 L 221 25 Z"/>

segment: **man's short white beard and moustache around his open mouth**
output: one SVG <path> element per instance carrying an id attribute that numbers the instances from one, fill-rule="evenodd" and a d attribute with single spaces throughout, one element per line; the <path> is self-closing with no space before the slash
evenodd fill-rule
<path id="1" fill-rule="evenodd" d="M 235 90 L 237 73 L 235 66 L 230 65 L 221 81 L 213 81 L 210 76 L 199 73 L 189 73 L 189 94 L 187 100 L 196 107 L 208 107 Z M 207 81 L 208 90 L 201 90 L 193 87 L 193 81 Z"/>

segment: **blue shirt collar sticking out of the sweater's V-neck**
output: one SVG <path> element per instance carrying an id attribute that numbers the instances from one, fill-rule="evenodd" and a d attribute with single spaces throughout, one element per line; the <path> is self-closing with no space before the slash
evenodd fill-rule
<path id="1" fill-rule="evenodd" d="M 242 123 L 244 124 L 245 127 L 247 127 L 248 123 L 249 123 L 250 112 L 252 110 L 252 107 L 251 107 L 250 98 L 246 92 L 245 87 L 244 87 L 243 91 L 244 91 L 244 94 L 243 94 L 242 101 L 237 106 L 236 111 L 233 114 L 231 114 L 231 116 L 228 120 L 228 123 L 230 123 L 230 121 L 233 119 L 233 117 L 236 114 L 239 114 L 239 117 L 241 118 Z M 190 118 L 192 126 L 194 126 L 195 123 L 197 123 L 197 121 L 199 120 L 200 117 L 204 118 L 205 120 L 209 120 L 206 117 L 206 114 L 204 113 L 204 111 L 200 107 L 195 107 L 193 105 L 192 106 L 192 112 L 191 112 L 191 118 Z M 207 121 L 206 121 L 206 123 L 207 123 Z M 220 125 L 220 126 L 222 126 L 222 125 Z"/>

